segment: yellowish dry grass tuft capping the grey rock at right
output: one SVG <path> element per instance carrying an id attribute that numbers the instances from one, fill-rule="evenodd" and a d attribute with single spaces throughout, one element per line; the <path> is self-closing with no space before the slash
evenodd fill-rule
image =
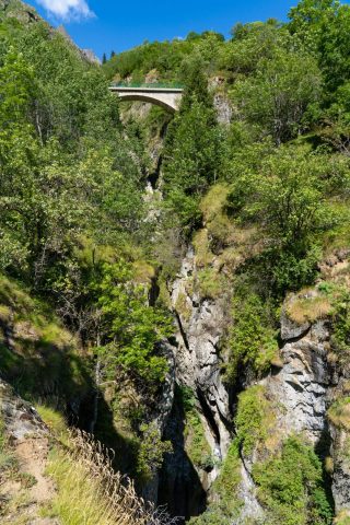
<path id="1" fill-rule="evenodd" d="M 330 312 L 331 304 L 328 298 L 322 295 L 307 296 L 307 293 L 301 293 L 299 299 L 291 302 L 287 307 L 288 317 L 299 325 L 324 319 Z"/>

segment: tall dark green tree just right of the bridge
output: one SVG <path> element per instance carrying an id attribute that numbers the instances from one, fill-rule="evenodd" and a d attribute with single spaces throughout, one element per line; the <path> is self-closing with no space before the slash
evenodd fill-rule
<path id="1" fill-rule="evenodd" d="M 200 223 L 200 197 L 219 173 L 221 132 L 200 60 L 186 66 L 186 90 L 165 144 L 164 191 L 166 207 L 188 233 Z"/>

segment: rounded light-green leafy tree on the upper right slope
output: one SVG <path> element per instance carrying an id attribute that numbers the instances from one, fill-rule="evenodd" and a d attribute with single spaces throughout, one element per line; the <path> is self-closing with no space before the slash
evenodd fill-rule
<path id="1" fill-rule="evenodd" d="M 272 56 L 261 58 L 254 74 L 237 81 L 231 91 L 241 117 L 260 125 L 277 144 L 305 129 L 305 112 L 320 96 L 316 60 L 289 47 L 278 47 Z"/>

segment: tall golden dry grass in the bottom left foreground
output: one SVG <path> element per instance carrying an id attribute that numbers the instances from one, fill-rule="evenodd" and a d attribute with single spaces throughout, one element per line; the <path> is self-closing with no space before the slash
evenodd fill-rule
<path id="1" fill-rule="evenodd" d="M 89 434 L 70 435 L 68 451 L 55 450 L 48 474 L 57 494 L 44 514 L 62 525 L 170 525 L 162 510 L 147 508 L 132 482 L 115 472 L 107 451 Z"/>

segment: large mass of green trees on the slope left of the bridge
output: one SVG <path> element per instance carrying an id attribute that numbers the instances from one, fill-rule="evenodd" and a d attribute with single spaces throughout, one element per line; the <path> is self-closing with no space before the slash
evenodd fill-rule
<path id="1" fill-rule="evenodd" d="M 9 24 L 1 25 L 0 267 L 47 291 L 82 232 L 120 244 L 119 232 L 136 230 L 142 174 L 130 158 L 137 138 L 121 137 L 98 69 L 44 22 L 18 23 L 16 32 Z"/>

